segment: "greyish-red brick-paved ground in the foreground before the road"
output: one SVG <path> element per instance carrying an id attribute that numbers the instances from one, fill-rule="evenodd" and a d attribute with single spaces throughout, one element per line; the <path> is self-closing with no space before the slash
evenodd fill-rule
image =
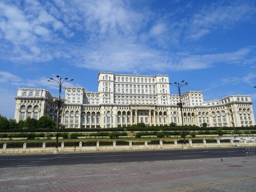
<path id="1" fill-rule="evenodd" d="M 255 191 L 256 158 L 0 168 L 0 191 Z"/>

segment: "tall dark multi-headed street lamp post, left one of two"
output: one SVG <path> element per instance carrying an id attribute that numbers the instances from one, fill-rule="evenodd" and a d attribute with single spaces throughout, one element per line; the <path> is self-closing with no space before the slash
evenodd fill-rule
<path id="1" fill-rule="evenodd" d="M 68 80 L 69 78 L 65 78 L 64 80 L 62 80 L 61 77 L 59 77 L 59 75 L 56 75 L 56 77 L 58 78 L 57 80 L 53 79 L 53 78 L 50 78 L 51 80 L 48 80 L 49 82 L 55 82 L 55 83 L 58 83 L 59 84 L 59 98 L 58 100 L 56 101 L 57 102 L 57 105 L 58 105 L 58 117 L 57 117 L 57 134 L 56 134 L 56 145 L 55 145 L 55 151 L 54 153 L 58 153 L 59 150 L 58 150 L 58 137 L 59 137 L 59 111 L 60 111 L 60 108 L 61 108 L 61 104 L 62 104 L 62 101 L 60 99 L 60 93 L 61 93 L 61 86 L 64 82 L 68 82 L 68 81 L 73 81 L 74 79 L 71 79 L 71 80 Z"/>

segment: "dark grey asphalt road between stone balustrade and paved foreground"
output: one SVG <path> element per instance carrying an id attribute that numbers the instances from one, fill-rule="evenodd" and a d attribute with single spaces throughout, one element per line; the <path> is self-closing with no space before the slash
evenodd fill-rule
<path id="1" fill-rule="evenodd" d="M 0 168 L 48 165 L 101 164 L 186 159 L 246 157 L 246 148 L 207 148 L 198 150 L 162 150 L 133 152 L 94 152 L 41 155 L 1 155 Z"/>

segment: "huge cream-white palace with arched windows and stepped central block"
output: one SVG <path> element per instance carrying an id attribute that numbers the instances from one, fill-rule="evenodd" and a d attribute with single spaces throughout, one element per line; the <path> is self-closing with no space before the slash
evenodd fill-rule
<path id="1" fill-rule="evenodd" d="M 168 75 L 124 75 L 99 72 L 98 92 L 66 87 L 59 122 L 66 128 L 107 128 L 182 125 L 178 94 L 170 94 Z M 173 87 L 175 92 L 177 88 Z M 45 89 L 18 89 L 16 121 L 48 116 L 57 121 L 58 97 Z M 181 95 L 184 125 L 253 126 L 255 119 L 249 95 L 231 95 L 204 101 L 202 91 Z"/>

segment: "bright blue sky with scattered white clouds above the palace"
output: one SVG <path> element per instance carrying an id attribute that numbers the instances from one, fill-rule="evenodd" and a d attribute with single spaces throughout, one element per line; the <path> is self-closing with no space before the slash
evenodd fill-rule
<path id="1" fill-rule="evenodd" d="M 58 95 L 47 81 L 56 75 L 97 92 L 100 71 L 167 74 L 205 101 L 242 94 L 255 102 L 255 18 L 249 0 L 2 0 L 0 114 L 14 118 L 18 88 Z"/>

